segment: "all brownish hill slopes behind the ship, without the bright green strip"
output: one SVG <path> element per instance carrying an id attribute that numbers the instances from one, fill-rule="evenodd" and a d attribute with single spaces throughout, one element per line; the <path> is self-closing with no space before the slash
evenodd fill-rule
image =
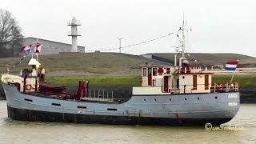
<path id="1" fill-rule="evenodd" d="M 174 54 L 154 54 L 161 58 L 174 60 Z M 29 68 L 30 61 L 27 56 L 11 72 L 17 73 L 19 70 Z M 228 60 L 239 59 L 240 66 L 256 66 L 256 58 L 242 54 L 190 54 L 189 59 L 197 59 L 194 64 L 223 65 Z M 0 73 L 6 72 L 6 64 L 10 68 L 17 64 L 21 58 L 0 58 Z M 46 68 L 46 73 L 50 75 L 82 75 L 82 74 L 140 74 L 140 66 L 164 65 L 166 63 L 153 59 L 144 58 L 139 55 L 120 53 L 63 53 L 39 56 L 39 62 Z M 192 62 L 193 64 L 193 62 Z"/>

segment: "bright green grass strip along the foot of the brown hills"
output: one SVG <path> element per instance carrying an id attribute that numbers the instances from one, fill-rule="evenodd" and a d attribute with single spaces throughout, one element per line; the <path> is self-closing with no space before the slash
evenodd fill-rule
<path id="1" fill-rule="evenodd" d="M 232 74 L 214 74 L 213 83 L 230 82 Z M 79 80 L 89 81 L 91 85 L 140 86 L 138 74 L 102 74 L 80 76 L 48 76 L 47 81 L 63 85 L 78 85 Z M 256 74 L 235 74 L 233 82 L 239 86 L 256 86 Z"/>

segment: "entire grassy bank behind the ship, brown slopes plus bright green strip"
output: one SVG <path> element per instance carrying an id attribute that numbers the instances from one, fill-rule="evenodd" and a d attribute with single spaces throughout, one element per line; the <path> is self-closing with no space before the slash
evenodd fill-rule
<path id="1" fill-rule="evenodd" d="M 156 54 L 162 58 L 174 58 L 174 54 Z M 224 64 L 230 59 L 240 59 L 242 64 L 255 64 L 256 59 L 242 54 L 190 54 L 191 57 L 202 59 L 200 61 L 208 64 Z M 26 57 L 12 73 L 18 73 L 19 70 L 29 68 L 27 63 L 30 56 Z M 6 72 L 6 64 L 10 67 L 18 63 L 21 58 L 0 58 L 0 74 Z M 199 61 L 199 60 L 198 60 Z M 200 62 L 199 61 L 199 62 Z M 39 62 L 46 68 L 46 78 L 51 82 L 75 85 L 79 79 L 86 79 L 91 84 L 121 84 L 121 85 L 139 85 L 140 66 L 163 65 L 159 61 L 144 58 L 138 55 L 119 54 L 119 53 L 66 53 L 39 56 Z M 103 74 L 103 75 L 102 75 Z M 58 76 L 58 77 L 56 77 Z M 214 77 L 214 82 L 230 81 L 231 74 Z M 256 74 L 236 75 L 234 82 L 242 83 L 242 86 L 255 85 Z M 223 81 L 224 82 L 224 81 Z"/>

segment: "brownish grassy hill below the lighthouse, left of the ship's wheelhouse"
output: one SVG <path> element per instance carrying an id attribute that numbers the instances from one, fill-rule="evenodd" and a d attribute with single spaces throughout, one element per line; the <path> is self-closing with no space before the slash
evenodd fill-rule
<path id="1" fill-rule="evenodd" d="M 30 68 L 27 63 L 30 56 L 25 58 L 21 64 L 13 70 L 18 72 L 23 68 Z M 0 71 L 6 72 L 6 64 L 10 67 L 19 62 L 21 58 L 0 58 Z M 143 58 L 138 55 L 119 54 L 119 53 L 64 53 L 42 55 L 38 61 L 46 68 L 46 73 L 52 75 L 66 74 L 134 74 L 139 73 L 140 66 L 162 65 L 152 59 Z"/>

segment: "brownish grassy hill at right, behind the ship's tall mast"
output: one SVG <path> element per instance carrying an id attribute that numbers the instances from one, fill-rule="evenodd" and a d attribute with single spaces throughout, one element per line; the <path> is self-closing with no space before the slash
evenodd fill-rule
<path id="1" fill-rule="evenodd" d="M 174 53 L 154 53 L 153 55 L 174 61 Z M 180 58 L 180 55 L 178 55 L 177 58 Z M 190 56 L 186 54 L 186 58 L 190 60 L 190 64 L 194 65 L 224 65 L 227 61 L 238 59 L 238 67 L 256 67 L 256 58 L 242 54 L 191 53 Z M 193 62 L 194 59 L 196 59 L 197 62 Z"/>

